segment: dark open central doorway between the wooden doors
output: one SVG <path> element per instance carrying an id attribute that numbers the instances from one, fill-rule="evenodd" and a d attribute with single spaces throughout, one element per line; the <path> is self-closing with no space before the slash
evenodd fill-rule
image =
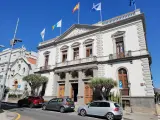
<path id="1" fill-rule="evenodd" d="M 71 98 L 74 102 L 77 102 L 78 95 L 78 83 L 71 84 Z"/>

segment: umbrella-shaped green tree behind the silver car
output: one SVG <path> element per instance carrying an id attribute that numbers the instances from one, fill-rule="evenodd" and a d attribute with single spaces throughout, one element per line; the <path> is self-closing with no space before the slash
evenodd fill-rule
<path id="1" fill-rule="evenodd" d="M 93 89 L 93 100 L 103 100 L 109 97 L 112 88 L 117 86 L 117 82 L 112 78 L 95 77 L 91 79 L 90 86 Z"/>

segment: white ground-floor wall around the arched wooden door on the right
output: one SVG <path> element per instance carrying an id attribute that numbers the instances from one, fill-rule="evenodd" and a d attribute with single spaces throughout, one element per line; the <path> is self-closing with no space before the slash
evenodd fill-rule
<path id="1" fill-rule="evenodd" d="M 131 95 L 132 96 L 145 96 L 145 86 L 141 86 L 140 83 L 145 83 L 143 80 L 143 71 L 142 71 L 142 61 L 133 60 L 131 64 L 128 62 L 119 62 L 113 65 L 105 65 L 105 76 L 111 77 L 114 80 L 118 81 L 118 70 L 120 68 L 126 68 L 128 74 L 128 81 L 131 83 Z"/>

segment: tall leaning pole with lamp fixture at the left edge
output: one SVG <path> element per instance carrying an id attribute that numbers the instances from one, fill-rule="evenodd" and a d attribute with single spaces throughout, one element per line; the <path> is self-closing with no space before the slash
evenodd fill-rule
<path id="1" fill-rule="evenodd" d="M 1 109 L 1 106 L 2 106 L 3 95 L 4 95 L 4 92 L 5 92 L 5 84 L 6 84 L 6 80 L 7 80 L 7 76 L 8 76 L 8 71 L 9 71 L 9 68 L 10 68 L 10 61 L 11 61 L 11 55 L 12 55 L 13 47 L 17 42 L 22 42 L 22 40 L 16 39 L 18 23 L 19 23 L 19 18 L 17 20 L 16 29 L 15 29 L 15 32 L 14 32 L 13 39 L 11 40 L 11 49 L 10 49 L 10 54 L 9 54 L 9 60 L 8 60 L 8 63 L 7 63 L 7 69 L 6 69 L 6 72 L 5 72 L 4 82 L 3 82 L 3 85 L 2 85 L 2 92 L 1 92 L 1 98 L 0 98 L 0 109 Z"/>

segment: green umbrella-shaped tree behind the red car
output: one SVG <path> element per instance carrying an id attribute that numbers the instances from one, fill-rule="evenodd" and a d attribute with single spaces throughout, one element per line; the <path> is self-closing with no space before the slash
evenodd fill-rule
<path id="1" fill-rule="evenodd" d="M 48 81 L 48 78 L 37 74 L 31 74 L 25 76 L 23 80 L 26 81 L 31 87 L 31 95 L 35 95 L 35 90 L 39 89 L 39 87 L 43 85 L 43 83 L 46 83 Z"/>

